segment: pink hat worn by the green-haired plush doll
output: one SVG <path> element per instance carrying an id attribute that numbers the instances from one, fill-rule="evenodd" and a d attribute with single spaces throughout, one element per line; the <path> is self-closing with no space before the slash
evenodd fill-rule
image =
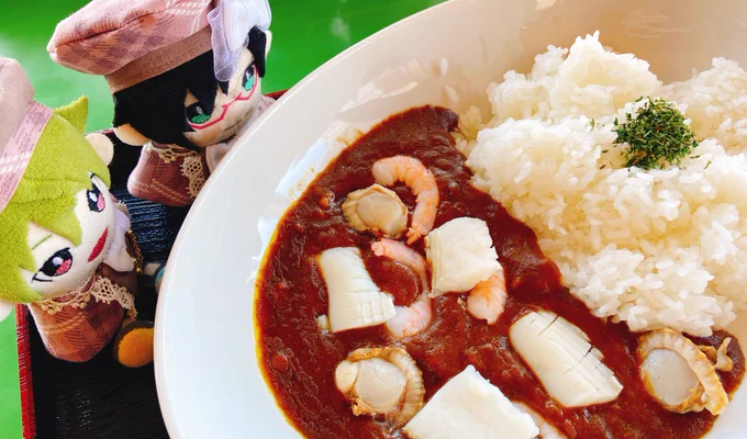
<path id="1" fill-rule="evenodd" d="M 14 59 L 0 57 L 0 213 L 23 178 L 42 131 L 52 117 L 49 108 L 34 101 L 34 88 Z"/>

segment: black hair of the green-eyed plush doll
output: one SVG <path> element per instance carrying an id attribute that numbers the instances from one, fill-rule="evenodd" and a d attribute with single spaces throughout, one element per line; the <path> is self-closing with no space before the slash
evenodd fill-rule
<path id="1" fill-rule="evenodd" d="M 258 27 L 253 27 L 247 48 L 259 78 L 265 76 L 266 46 L 266 34 Z M 202 114 L 212 114 L 219 89 L 227 95 L 228 81 L 219 81 L 215 78 L 213 50 L 208 50 L 172 70 L 114 93 L 113 126 L 132 127 L 127 133 L 122 128 L 116 130 L 120 138 L 129 144 L 143 145 L 149 139 L 199 151 L 208 145 L 196 145 L 185 136 L 185 133 L 196 131 L 190 126 L 189 113 L 190 110 L 196 112 L 196 108 L 200 106 Z M 188 92 L 194 95 L 197 102 L 186 106 Z M 233 134 L 235 132 L 223 133 L 218 142 Z"/>

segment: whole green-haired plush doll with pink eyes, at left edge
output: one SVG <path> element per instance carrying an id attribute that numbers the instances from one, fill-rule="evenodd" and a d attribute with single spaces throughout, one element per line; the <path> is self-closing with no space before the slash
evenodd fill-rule
<path id="1" fill-rule="evenodd" d="M 112 144 L 83 136 L 87 100 L 48 109 L 0 58 L 0 301 L 29 304 L 56 358 L 87 361 L 116 337 L 122 364 L 149 363 L 153 324 L 135 319 L 142 258 L 108 189 Z"/>

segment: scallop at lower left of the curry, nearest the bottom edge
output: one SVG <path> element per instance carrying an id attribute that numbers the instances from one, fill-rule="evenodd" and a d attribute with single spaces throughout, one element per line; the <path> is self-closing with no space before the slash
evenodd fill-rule
<path id="1" fill-rule="evenodd" d="M 361 348 L 337 364 L 335 384 L 353 414 L 384 415 L 395 426 L 423 406 L 425 386 L 415 361 L 400 348 Z"/>

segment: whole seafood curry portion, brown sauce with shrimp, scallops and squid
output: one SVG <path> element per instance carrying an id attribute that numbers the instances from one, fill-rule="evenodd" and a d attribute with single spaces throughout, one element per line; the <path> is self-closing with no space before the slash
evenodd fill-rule
<path id="1" fill-rule="evenodd" d="M 424 106 L 346 148 L 280 221 L 259 274 L 266 379 L 309 438 L 698 438 L 745 372 L 737 340 L 632 333 L 564 288 L 472 185 Z"/>

